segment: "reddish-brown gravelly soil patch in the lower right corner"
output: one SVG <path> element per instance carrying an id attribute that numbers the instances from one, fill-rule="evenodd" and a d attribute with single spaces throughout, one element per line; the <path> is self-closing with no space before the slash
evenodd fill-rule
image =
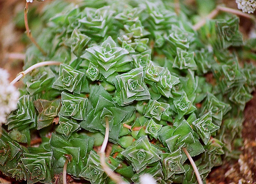
<path id="1" fill-rule="evenodd" d="M 244 146 L 239 160 L 224 161 L 222 166 L 212 170 L 208 176 L 209 184 L 256 183 L 256 93 L 247 103 L 244 116 Z"/>

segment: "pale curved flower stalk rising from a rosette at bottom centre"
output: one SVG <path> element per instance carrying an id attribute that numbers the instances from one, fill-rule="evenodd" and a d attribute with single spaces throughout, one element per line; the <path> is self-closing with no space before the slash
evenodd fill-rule
<path id="1" fill-rule="evenodd" d="M 104 141 L 102 143 L 102 146 L 100 148 L 99 151 L 99 155 L 100 155 L 100 164 L 102 169 L 104 170 L 104 172 L 113 180 L 115 181 L 117 184 L 124 184 L 125 182 L 123 181 L 123 179 L 116 173 L 114 173 L 114 171 L 112 171 L 112 169 L 109 168 L 108 165 L 106 165 L 105 162 L 105 149 L 106 149 L 106 145 L 108 144 L 109 141 L 109 131 L 110 131 L 110 125 L 109 125 L 109 119 L 108 117 L 105 117 L 105 123 L 106 123 L 106 130 L 105 130 L 105 136 L 104 136 Z"/>

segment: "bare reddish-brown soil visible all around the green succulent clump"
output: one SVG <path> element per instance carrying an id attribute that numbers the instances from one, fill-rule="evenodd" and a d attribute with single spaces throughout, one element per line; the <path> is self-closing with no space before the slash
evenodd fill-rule
<path id="1" fill-rule="evenodd" d="M 193 0 L 187 0 L 194 2 Z M 221 1 L 227 7 L 236 8 L 235 1 Z M 26 51 L 26 43 L 22 42 L 23 29 L 17 29 L 13 23 L 13 17 L 18 11 L 22 11 L 26 1 L 0 0 L 0 67 L 6 68 L 11 76 L 10 81 L 22 71 L 23 57 Z M 33 4 L 40 4 L 35 2 Z M 37 6 L 37 5 L 35 5 Z M 245 37 L 251 30 L 251 21 L 240 17 L 241 32 Z M 33 32 L 32 32 L 33 33 Z M 16 54 L 21 53 L 21 55 Z M 17 86 L 21 83 L 16 83 Z M 247 103 L 244 111 L 244 123 L 242 130 L 244 146 L 238 160 L 223 160 L 223 165 L 214 168 L 207 178 L 208 184 L 225 183 L 256 183 L 256 93 L 253 99 Z M 0 174 L 0 183 L 20 183 Z"/>

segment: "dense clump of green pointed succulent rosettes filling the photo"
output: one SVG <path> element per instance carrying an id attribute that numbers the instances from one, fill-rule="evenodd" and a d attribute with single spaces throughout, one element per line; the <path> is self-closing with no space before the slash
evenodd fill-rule
<path id="1" fill-rule="evenodd" d="M 174 7 L 144 0 L 49 4 L 37 37 L 47 54 L 31 46 L 24 69 L 61 64 L 24 77 L 17 109 L 2 127 L 0 170 L 52 183 L 66 165 L 82 182 L 114 183 L 98 153 L 105 133 L 106 166 L 129 183 L 145 173 L 158 183 L 196 183 L 184 151 L 203 180 L 224 153 L 236 157 L 256 82 L 255 67 L 239 63 L 249 43 L 244 47 L 235 15 L 222 13 L 195 31 L 195 12 Z"/>

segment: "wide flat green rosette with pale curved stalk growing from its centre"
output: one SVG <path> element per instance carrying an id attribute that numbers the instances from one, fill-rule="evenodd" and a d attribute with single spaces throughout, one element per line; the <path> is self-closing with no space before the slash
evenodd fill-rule
<path id="1" fill-rule="evenodd" d="M 131 117 L 134 107 L 120 107 L 112 100 L 110 94 L 102 86 L 91 87 L 89 101 L 93 105 L 86 117 L 86 121 L 82 121 L 80 126 L 86 130 L 95 132 L 105 132 L 105 117 L 108 118 L 110 124 L 110 139 L 114 142 L 118 141 L 121 122 L 126 117 Z"/>

